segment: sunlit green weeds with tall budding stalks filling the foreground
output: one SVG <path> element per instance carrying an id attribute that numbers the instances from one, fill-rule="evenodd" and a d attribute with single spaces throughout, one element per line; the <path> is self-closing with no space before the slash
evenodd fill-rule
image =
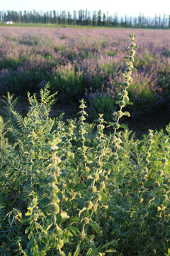
<path id="1" fill-rule="evenodd" d="M 104 133 L 103 114 L 91 132 L 84 100 L 78 121 L 50 118 L 48 84 L 40 100 L 28 93 L 26 117 L 11 104 L 16 123 L 7 129 L 1 118 L 1 255 L 169 255 L 170 125 L 141 141 L 118 132 L 129 116 L 122 110 L 130 72 L 109 124 L 113 134 Z"/>

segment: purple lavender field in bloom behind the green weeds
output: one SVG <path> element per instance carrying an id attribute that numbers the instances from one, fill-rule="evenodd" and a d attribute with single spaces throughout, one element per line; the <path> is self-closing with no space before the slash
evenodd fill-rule
<path id="1" fill-rule="evenodd" d="M 169 109 L 170 31 L 165 30 L 1 27 L 1 95 L 9 91 L 26 97 L 50 82 L 60 102 L 83 97 L 92 115 L 113 112 L 131 33 L 139 49 L 130 111 L 139 114 L 158 105 Z"/>

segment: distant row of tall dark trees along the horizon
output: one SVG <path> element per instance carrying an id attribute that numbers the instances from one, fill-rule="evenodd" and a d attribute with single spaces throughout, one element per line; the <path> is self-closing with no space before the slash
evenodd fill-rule
<path id="1" fill-rule="evenodd" d="M 52 23 L 58 25 L 113 26 L 137 28 L 170 28 L 170 15 L 155 15 L 154 18 L 140 14 L 137 17 L 119 17 L 99 11 L 0 11 L 0 21 L 14 23 Z"/>

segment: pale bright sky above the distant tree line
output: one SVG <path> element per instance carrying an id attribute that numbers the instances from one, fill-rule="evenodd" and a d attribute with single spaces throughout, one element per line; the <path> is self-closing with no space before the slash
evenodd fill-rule
<path id="1" fill-rule="evenodd" d="M 0 11 L 98 11 L 118 16 L 138 16 L 140 13 L 153 17 L 170 14 L 170 0 L 6 0 Z"/>

